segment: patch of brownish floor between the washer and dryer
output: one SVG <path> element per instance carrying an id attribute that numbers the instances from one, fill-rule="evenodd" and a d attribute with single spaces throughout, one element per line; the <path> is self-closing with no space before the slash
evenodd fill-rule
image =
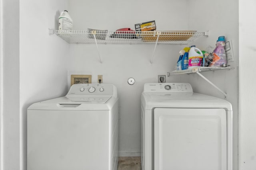
<path id="1" fill-rule="evenodd" d="M 117 170 L 141 170 L 140 157 L 119 157 Z"/>

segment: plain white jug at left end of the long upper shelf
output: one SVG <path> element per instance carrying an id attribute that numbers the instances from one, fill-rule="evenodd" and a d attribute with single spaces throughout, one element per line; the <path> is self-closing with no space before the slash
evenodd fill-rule
<path id="1" fill-rule="evenodd" d="M 73 20 L 70 18 L 68 11 L 64 10 L 59 16 L 59 30 L 72 30 Z"/>

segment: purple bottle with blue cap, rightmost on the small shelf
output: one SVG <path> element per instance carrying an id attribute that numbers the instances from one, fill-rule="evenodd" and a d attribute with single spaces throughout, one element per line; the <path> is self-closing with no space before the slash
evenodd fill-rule
<path id="1" fill-rule="evenodd" d="M 215 67 L 226 67 L 227 66 L 227 57 L 225 51 L 225 36 L 218 37 L 216 42 L 215 49 L 213 50 L 212 55 L 214 60 L 210 66 Z"/>

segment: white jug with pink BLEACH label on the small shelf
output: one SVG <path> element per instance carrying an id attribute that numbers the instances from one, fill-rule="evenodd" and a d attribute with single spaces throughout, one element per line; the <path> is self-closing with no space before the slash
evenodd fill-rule
<path id="1" fill-rule="evenodd" d="M 188 53 L 188 69 L 202 66 L 202 62 L 203 62 L 202 51 L 196 47 L 191 47 Z"/>

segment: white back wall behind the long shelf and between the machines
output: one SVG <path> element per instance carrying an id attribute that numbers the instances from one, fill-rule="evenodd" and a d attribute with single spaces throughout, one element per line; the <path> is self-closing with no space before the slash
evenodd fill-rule
<path id="1" fill-rule="evenodd" d="M 96 5 L 97 3 L 97 5 Z M 180 9 L 184 9 L 180 10 Z M 70 0 L 68 10 L 74 29 L 116 29 L 155 20 L 158 30 L 187 30 L 186 0 Z M 181 20 L 184 20 L 182 22 Z M 70 74 L 103 75 L 104 83 L 114 84 L 119 96 L 119 153 L 120 156 L 140 156 L 140 95 L 146 82 L 157 82 L 158 74 L 173 69 L 180 45 L 158 45 L 155 59 L 150 60 L 154 45 L 99 45 L 102 64 L 95 45 L 71 45 L 68 59 Z M 135 79 L 128 85 L 128 78 Z M 171 78 L 168 78 L 168 82 Z"/>

